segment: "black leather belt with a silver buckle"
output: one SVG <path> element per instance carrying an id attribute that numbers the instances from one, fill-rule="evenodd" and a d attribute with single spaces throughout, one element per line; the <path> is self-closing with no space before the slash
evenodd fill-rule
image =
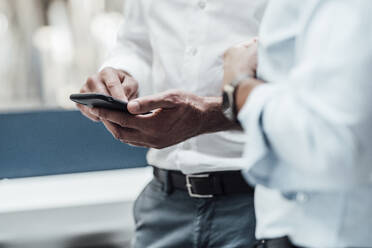
<path id="1" fill-rule="evenodd" d="M 169 192 L 173 188 L 185 190 L 190 197 L 212 198 L 219 195 L 253 194 L 240 171 L 221 171 L 195 175 L 184 175 L 179 171 L 154 167 L 154 176 Z"/>

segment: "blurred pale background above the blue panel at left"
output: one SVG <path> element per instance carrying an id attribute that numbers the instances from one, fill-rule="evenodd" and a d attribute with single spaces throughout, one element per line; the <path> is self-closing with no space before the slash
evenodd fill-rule
<path id="1" fill-rule="evenodd" d="M 115 44 L 123 0 L 0 0 L 0 111 L 71 108 Z"/>

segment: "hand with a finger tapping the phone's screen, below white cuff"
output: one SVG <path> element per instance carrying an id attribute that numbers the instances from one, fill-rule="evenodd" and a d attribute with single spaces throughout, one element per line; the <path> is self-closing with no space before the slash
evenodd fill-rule
<path id="1" fill-rule="evenodd" d="M 101 93 L 128 101 L 138 97 L 138 83 L 128 73 L 114 68 L 104 68 L 100 73 L 89 77 L 80 93 Z M 93 121 L 100 121 L 91 109 L 77 104 L 83 115 Z"/>

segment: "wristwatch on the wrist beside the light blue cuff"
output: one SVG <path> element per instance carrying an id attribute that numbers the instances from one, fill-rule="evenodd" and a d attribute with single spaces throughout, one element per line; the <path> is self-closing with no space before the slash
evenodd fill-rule
<path id="1" fill-rule="evenodd" d="M 237 119 L 238 113 L 236 109 L 236 90 L 238 89 L 239 84 L 243 80 L 248 78 L 250 77 L 249 76 L 239 77 L 223 87 L 222 112 L 224 116 L 230 121 L 239 122 Z"/>

